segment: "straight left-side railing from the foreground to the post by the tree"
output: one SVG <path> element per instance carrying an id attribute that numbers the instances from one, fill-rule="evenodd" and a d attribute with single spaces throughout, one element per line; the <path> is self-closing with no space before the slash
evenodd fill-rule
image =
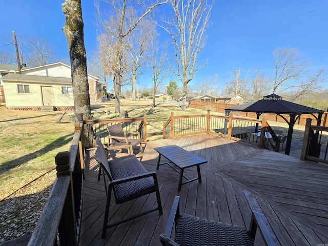
<path id="1" fill-rule="evenodd" d="M 57 178 L 28 245 L 77 245 L 83 195 L 83 122 L 75 124 L 72 145 L 55 157 Z"/>

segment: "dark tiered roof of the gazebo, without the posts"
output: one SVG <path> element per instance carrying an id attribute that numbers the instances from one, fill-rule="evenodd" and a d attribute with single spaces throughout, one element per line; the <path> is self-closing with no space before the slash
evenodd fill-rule
<path id="1" fill-rule="evenodd" d="M 291 103 L 290 101 L 282 100 L 281 96 L 271 94 L 264 96 L 262 100 L 253 103 L 242 104 L 225 109 L 230 111 L 243 111 L 255 113 L 273 113 L 273 114 L 313 114 L 323 113 L 323 110 L 310 108 L 304 105 Z"/>

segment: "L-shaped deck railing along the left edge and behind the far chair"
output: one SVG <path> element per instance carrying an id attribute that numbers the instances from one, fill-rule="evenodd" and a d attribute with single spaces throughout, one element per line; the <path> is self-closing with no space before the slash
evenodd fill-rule
<path id="1" fill-rule="evenodd" d="M 147 141 L 146 114 L 139 118 L 84 121 L 83 115 L 79 118 L 69 151 L 59 152 L 55 157 L 57 178 L 28 245 L 78 245 L 85 150 L 93 147 L 92 139 L 98 136 L 106 143 L 107 126 L 120 123 L 124 130 L 138 131 L 142 141 Z"/>

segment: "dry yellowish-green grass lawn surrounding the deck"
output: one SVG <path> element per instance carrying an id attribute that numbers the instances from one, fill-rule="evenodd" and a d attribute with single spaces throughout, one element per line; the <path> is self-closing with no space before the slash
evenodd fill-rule
<path id="1" fill-rule="evenodd" d="M 101 104 L 92 110 L 95 119 L 104 119 L 114 113 L 114 100 Z M 141 117 L 147 113 L 147 132 L 159 131 L 171 112 L 174 115 L 207 114 L 205 110 L 188 108 L 182 111 L 177 104 L 160 103 L 151 106 L 152 101 L 128 99 L 121 100 L 121 110 L 128 111 L 129 117 Z M 27 183 L 55 168 L 54 157 L 60 151 L 68 151 L 74 132 L 74 122 L 67 112 L 38 112 L 8 110 L 0 106 L 0 201 Z M 219 115 L 219 113 L 211 112 Z M 270 121 L 269 124 L 288 131 L 288 125 Z M 294 137 L 302 139 L 304 126 L 295 126 Z M 148 140 L 160 139 L 151 136 Z"/>

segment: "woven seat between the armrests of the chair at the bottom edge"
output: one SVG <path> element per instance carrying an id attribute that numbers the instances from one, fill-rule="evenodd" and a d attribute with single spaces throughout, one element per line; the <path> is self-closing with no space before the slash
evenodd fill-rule
<path id="1" fill-rule="evenodd" d="M 254 245 L 244 227 L 181 214 L 175 240 L 180 246 L 193 245 Z"/>

